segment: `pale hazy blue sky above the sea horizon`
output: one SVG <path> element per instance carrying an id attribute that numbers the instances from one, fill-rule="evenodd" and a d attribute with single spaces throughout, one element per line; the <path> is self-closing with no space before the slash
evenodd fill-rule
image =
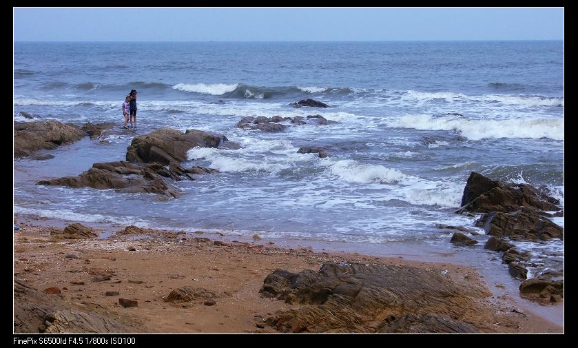
<path id="1" fill-rule="evenodd" d="M 564 8 L 13 8 L 14 41 L 561 40 Z"/>

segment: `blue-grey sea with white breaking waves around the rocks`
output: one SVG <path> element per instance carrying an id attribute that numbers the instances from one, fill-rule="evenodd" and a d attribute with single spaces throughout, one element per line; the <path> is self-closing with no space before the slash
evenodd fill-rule
<path id="1" fill-rule="evenodd" d="M 122 130 L 133 89 L 137 128 Z M 329 108 L 289 105 L 301 99 Z M 468 176 L 545 187 L 564 207 L 563 41 L 14 42 L 13 108 L 14 121 L 116 123 L 54 158 L 14 159 L 17 216 L 461 263 L 517 296 L 477 217 L 455 214 Z M 336 123 L 236 127 L 245 116 L 316 114 Z M 183 166 L 219 173 L 175 182 L 183 196 L 170 201 L 36 185 L 125 160 L 134 136 L 161 127 L 217 132 L 241 148 L 189 150 Z M 455 247 L 443 225 L 474 229 L 480 243 Z M 533 256 L 530 277 L 563 271 L 562 240 L 515 244 Z"/>

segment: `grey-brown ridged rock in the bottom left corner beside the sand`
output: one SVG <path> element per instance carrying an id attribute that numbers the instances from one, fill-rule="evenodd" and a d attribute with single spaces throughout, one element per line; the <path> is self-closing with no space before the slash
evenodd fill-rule
<path id="1" fill-rule="evenodd" d="M 60 294 L 49 295 L 14 280 L 14 333 L 67 334 L 67 333 L 134 333 L 145 331 L 131 320 L 112 318 L 107 309 L 98 305 L 78 308 Z"/>

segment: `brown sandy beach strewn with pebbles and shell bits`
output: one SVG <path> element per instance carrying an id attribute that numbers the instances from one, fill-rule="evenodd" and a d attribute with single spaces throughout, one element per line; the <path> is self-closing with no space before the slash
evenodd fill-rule
<path id="1" fill-rule="evenodd" d="M 152 231 L 152 235 L 145 238 L 114 235 L 54 243 L 49 240 L 50 229 L 54 228 L 52 226 L 60 225 L 56 221 L 47 219 L 37 223 L 23 223 L 21 216 L 15 216 L 14 220 L 18 220 L 20 225 L 20 229 L 14 231 L 14 279 L 25 280 L 39 290 L 59 287 L 63 289 L 65 298 L 75 299 L 75 303 L 83 307 L 94 307 L 96 312 L 106 309 L 107 313 L 124 318 L 123 315 L 130 311 L 129 318 L 123 320 L 132 323 L 135 332 L 278 332 L 268 325 L 256 326 L 263 326 L 262 322 L 276 311 L 292 307 L 283 301 L 260 296 L 258 290 L 267 274 L 276 268 L 290 272 L 301 272 L 303 269 L 317 271 L 323 263 L 369 263 L 370 260 L 384 265 L 446 270 L 460 286 L 470 287 L 477 292 L 485 291 L 486 294 L 488 290 L 491 291 L 492 296 L 475 299 L 482 307 L 495 309 L 495 315 L 502 318 L 496 321 L 493 327 L 495 331 L 488 332 L 564 332 L 563 326 L 537 316 L 532 311 L 520 309 L 523 306 L 519 306 L 512 296 L 496 296 L 495 289 L 482 279 L 483 276 L 480 277 L 475 269 L 463 265 L 422 262 L 406 257 L 313 252 L 311 246 L 293 245 L 291 248 L 285 243 L 271 242 L 265 238 L 256 238 L 247 243 L 230 240 L 236 236 L 210 233 L 190 236 L 183 232 L 155 229 L 147 229 Z M 117 231 L 112 226 L 107 230 Z M 206 240 L 207 236 L 211 240 Z M 205 239 L 194 240 L 194 237 Z M 130 246 L 136 250 L 128 251 Z M 64 257 L 70 253 L 78 254 L 79 258 Z M 142 267 L 143 262 L 152 268 Z M 114 272 L 120 282 L 91 283 L 89 279 L 92 275 L 86 273 L 90 269 Z M 84 285 L 73 285 L 71 281 Z M 234 295 L 232 298 L 216 298 L 216 306 L 192 301 L 176 307 L 172 303 L 163 302 L 169 289 L 187 285 Z M 120 291 L 121 297 L 125 295 L 136 298 L 138 307 L 125 309 L 119 306 L 118 296 L 104 295 L 105 291 L 112 290 Z M 558 306 L 563 310 L 563 304 Z"/>

